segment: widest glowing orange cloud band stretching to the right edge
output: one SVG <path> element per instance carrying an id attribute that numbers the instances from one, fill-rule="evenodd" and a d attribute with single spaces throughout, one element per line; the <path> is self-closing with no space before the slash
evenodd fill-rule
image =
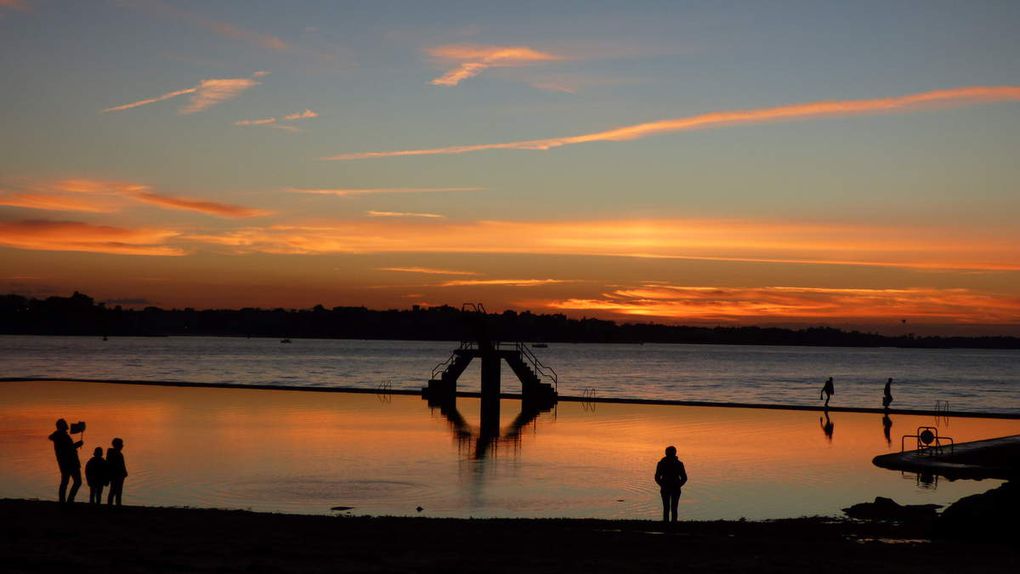
<path id="1" fill-rule="evenodd" d="M 513 238 L 508 241 L 508 238 Z M 264 253 L 522 253 L 708 261 L 1020 270 L 989 230 L 713 219 L 446 222 L 380 218 L 192 236 Z"/>

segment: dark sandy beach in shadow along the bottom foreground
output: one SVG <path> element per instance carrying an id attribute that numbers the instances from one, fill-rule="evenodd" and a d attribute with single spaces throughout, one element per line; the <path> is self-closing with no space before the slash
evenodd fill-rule
<path id="1" fill-rule="evenodd" d="M 6 572 L 1016 572 L 930 525 L 315 517 L 0 501 Z"/>

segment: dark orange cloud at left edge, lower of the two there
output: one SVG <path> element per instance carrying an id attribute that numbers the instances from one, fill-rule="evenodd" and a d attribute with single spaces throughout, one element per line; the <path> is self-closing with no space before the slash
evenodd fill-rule
<path id="1" fill-rule="evenodd" d="M 184 255 L 163 245 L 176 231 L 125 229 L 81 221 L 0 221 L 0 246 L 37 251 L 85 251 L 116 255 Z"/>

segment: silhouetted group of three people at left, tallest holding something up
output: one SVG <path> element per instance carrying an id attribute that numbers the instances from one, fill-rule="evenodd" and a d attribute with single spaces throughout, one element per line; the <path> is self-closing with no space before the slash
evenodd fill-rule
<path id="1" fill-rule="evenodd" d="M 83 425 L 84 423 L 79 423 Z M 78 494 L 78 489 L 82 486 L 82 461 L 78 458 L 78 450 L 85 445 L 85 440 L 74 440 L 71 438 L 69 425 L 64 419 L 57 419 L 57 429 L 49 438 L 53 441 L 53 452 L 57 457 L 57 468 L 60 470 L 60 488 L 58 500 L 60 504 L 71 504 Z M 124 479 L 128 478 L 128 466 L 124 463 L 123 455 L 124 441 L 114 438 L 110 442 L 110 448 L 106 450 L 106 458 L 103 458 L 103 448 L 96 447 L 92 458 L 85 465 L 85 479 L 89 484 L 89 503 L 94 505 L 102 504 L 103 488 L 110 487 L 106 498 L 107 505 L 120 506 L 123 493 Z M 70 491 L 67 491 L 67 484 L 70 483 Z"/>

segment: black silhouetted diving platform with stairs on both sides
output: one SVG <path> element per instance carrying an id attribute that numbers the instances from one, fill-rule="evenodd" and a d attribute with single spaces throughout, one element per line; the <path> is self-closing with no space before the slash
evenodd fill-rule
<path id="1" fill-rule="evenodd" d="M 457 379 L 475 358 L 481 360 L 481 397 L 499 399 L 502 363 L 506 361 L 521 383 L 521 399 L 528 405 L 556 403 L 558 377 L 523 343 L 463 342 L 450 358 L 432 369 L 432 378 L 421 389 L 429 403 L 456 400 Z"/>

